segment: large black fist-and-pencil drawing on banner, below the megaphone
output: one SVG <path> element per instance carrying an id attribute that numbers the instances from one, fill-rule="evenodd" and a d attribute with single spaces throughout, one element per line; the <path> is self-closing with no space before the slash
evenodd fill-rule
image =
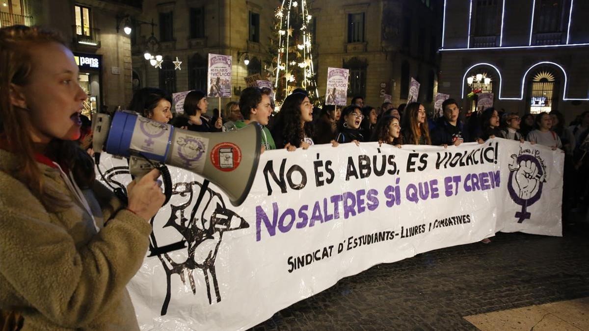
<path id="1" fill-rule="evenodd" d="M 109 169 L 105 174 L 105 177 L 110 183 L 123 187 L 123 184 L 113 177 L 115 174 L 129 176 L 129 171 L 128 167 L 115 167 Z M 241 230 L 249 227 L 249 224 L 243 217 L 229 210 L 223 197 L 216 191 L 211 190 L 211 188 L 207 188 L 200 206 L 194 206 L 200 188 L 201 183 L 197 181 L 176 183 L 174 184 L 172 197 L 168 203 L 170 215 L 163 227 L 173 227 L 176 229 L 183 239 L 186 240 L 188 247 L 187 257 L 184 262 L 176 262 L 168 253 L 158 255 L 158 259 L 160 259 L 166 272 L 167 282 L 166 298 L 161 306 L 162 316 L 167 314 L 168 304 L 170 304 L 171 276 L 173 274 L 178 274 L 184 285 L 186 285 L 186 280 L 188 279 L 193 294 L 196 294 L 194 270 L 200 269 L 203 272 L 204 282 L 207 287 L 209 304 L 213 304 L 213 300 L 214 302 L 221 302 L 215 261 L 217 251 L 223 239 L 223 233 L 225 231 Z M 195 208 L 194 219 L 190 220 L 190 215 Z M 151 226 L 154 226 L 154 219 L 155 217 L 151 219 Z M 155 233 L 152 232 L 150 236 L 150 248 L 157 246 Z"/>

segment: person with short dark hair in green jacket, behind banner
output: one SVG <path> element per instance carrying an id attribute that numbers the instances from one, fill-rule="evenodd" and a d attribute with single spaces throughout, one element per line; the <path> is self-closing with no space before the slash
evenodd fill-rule
<path id="1" fill-rule="evenodd" d="M 236 128 L 243 128 L 252 122 L 259 123 L 262 125 L 262 147 L 264 150 L 275 150 L 276 144 L 266 127 L 272 114 L 269 95 L 262 93 L 259 87 L 246 87 L 239 97 L 239 110 L 244 120 L 236 121 Z"/>

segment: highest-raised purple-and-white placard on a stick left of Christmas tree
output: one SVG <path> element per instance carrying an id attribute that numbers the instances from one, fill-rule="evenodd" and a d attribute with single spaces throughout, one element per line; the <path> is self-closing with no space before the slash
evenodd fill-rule
<path id="1" fill-rule="evenodd" d="M 231 97 L 231 55 L 209 53 L 208 97 Z"/>

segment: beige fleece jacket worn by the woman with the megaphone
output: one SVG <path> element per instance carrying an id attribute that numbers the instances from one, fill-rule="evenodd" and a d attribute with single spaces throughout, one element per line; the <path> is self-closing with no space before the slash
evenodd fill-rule
<path id="1" fill-rule="evenodd" d="M 93 218 L 61 171 L 39 163 L 45 184 L 72 200 L 48 213 L 9 174 L 15 166 L 15 155 L 0 150 L 0 309 L 21 312 L 23 330 L 137 330 L 125 286 L 143 262 L 150 224 L 98 181 Z"/>

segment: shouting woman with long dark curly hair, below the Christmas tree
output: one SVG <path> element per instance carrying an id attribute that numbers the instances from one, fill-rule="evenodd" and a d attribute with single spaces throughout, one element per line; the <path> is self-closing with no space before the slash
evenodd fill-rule
<path id="1" fill-rule="evenodd" d="M 272 127 L 276 148 L 294 151 L 313 145 L 313 104 L 303 93 L 293 93 L 284 99 Z"/>

